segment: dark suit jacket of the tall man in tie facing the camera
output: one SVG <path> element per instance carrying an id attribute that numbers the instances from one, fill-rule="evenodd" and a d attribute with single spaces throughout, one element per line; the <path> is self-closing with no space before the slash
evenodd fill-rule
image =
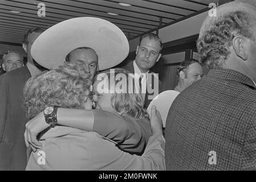
<path id="1" fill-rule="evenodd" d="M 127 64 L 125 64 L 123 67 L 123 69 L 126 69 L 127 71 L 131 72 L 131 73 L 135 73 L 134 71 L 134 67 L 133 67 L 133 61 L 129 61 Z M 149 73 L 154 73 L 152 71 L 149 71 Z M 149 80 L 147 78 L 147 90 L 146 90 L 146 94 L 145 94 L 145 100 L 144 100 L 144 107 L 145 108 L 148 108 L 148 105 L 150 104 L 150 102 L 153 100 L 153 98 L 155 96 L 157 96 L 158 94 L 154 94 L 154 93 L 149 93 L 148 91 L 148 86 L 150 88 L 154 88 L 155 84 L 158 82 L 158 86 L 159 86 L 159 89 L 158 89 L 158 94 L 161 93 L 161 81 L 158 79 L 158 78 L 154 78 L 153 76 L 151 77 L 151 80 Z"/>

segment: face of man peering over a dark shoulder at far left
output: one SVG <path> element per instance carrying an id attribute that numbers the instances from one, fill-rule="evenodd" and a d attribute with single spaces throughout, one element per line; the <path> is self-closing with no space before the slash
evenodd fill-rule
<path id="1" fill-rule="evenodd" d="M 2 67 L 5 72 L 10 72 L 24 66 L 23 56 L 14 50 L 7 51 L 5 55 L 3 55 L 2 59 Z"/>

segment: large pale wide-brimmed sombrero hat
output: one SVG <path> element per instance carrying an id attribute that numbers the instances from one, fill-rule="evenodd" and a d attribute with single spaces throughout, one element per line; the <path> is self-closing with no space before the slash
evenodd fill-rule
<path id="1" fill-rule="evenodd" d="M 129 53 L 128 40 L 115 24 L 100 18 L 80 17 L 44 31 L 32 44 L 31 55 L 43 67 L 53 69 L 63 65 L 68 53 L 79 47 L 96 51 L 100 70 L 121 63 Z"/>

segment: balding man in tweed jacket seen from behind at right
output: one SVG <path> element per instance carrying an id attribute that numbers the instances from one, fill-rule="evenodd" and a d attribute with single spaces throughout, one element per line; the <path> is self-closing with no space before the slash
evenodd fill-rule
<path id="1" fill-rule="evenodd" d="M 256 169 L 256 5 L 218 7 L 197 48 L 207 76 L 181 92 L 166 120 L 167 170 Z"/>

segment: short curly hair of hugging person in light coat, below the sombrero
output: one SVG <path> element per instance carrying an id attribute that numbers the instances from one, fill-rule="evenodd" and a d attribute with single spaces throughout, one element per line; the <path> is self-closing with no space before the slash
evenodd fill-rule
<path id="1" fill-rule="evenodd" d="M 85 67 L 83 61 L 77 61 L 30 78 L 23 90 L 27 118 L 53 105 L 84 109 L 91 85 Z"/>

